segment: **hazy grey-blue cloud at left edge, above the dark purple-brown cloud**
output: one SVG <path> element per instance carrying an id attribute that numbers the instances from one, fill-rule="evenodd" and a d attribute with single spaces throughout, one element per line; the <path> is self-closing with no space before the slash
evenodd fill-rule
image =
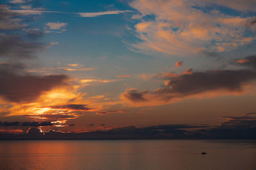
<path id="1" fill-rule="evenodd" d="M 35 35 L 31 38 L 35 38 Z M 43 48 L 44 46 L 40 43 L 22 40 L 19 35 L 0 34 L 0 57 L 31 59 L 36 56 L 38 50 Z"/>

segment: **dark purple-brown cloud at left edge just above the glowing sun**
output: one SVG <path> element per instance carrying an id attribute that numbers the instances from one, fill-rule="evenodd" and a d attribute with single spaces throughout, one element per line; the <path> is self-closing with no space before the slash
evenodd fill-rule
<path id="1" fill-rule="evenodd" d="M 63 74 L 36 76 L 28 74 L 22 64 L 0 64 L 0 96 L 12 102 L 31 102 L 42 92 L 65 85 Z"/>

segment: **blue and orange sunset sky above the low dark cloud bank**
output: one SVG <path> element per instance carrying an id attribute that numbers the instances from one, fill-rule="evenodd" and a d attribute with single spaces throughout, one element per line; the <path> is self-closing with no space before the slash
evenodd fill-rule
<path id="1" fill-rule="evenodd" d="M 246 125 L 255 80 L 254 0 L 0 2 L 1 132 Z"/>

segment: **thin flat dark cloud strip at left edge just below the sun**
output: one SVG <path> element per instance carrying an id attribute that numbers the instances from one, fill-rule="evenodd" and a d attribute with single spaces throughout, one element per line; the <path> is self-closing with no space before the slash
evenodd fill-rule
<path id="1" fill-rule="evenodd" d="M 1 122 L 0 126 L 29 126 L 29 127 L 38 127 L 38 126 L 52 126 L 51 122 Z"/>

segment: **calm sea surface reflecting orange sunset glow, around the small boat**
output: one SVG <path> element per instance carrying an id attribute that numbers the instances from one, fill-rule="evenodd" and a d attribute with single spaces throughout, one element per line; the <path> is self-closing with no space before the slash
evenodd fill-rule
<path id="1" fill-rule="evenodd" d="M 256 141 L 0 141 L 0 169 L 254 170 Z"/>

